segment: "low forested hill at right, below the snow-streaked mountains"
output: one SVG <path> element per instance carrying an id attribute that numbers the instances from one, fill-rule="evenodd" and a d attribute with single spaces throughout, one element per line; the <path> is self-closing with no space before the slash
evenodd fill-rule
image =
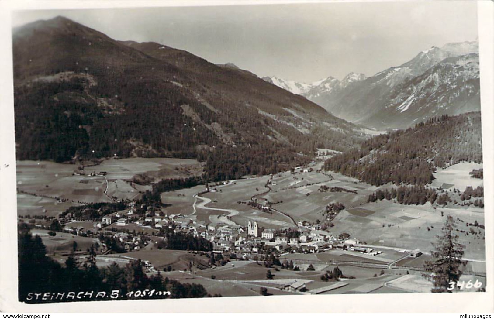
<path id="1" fill-rule="evenodd" d="M 441 116 L 413 128 L 373 137 L 360 148 L 336 155 L 324 168 L 372 184 L 425 185 L 436 167 L 482 162 L 479 112 Z"/>

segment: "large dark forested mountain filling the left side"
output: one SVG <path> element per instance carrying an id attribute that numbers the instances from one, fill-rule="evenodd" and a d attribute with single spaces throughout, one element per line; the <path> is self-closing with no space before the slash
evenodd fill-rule
<path id="1" fill-rule="evenodd" d="M 172 156 L 213 165 L 221 153 L 237 159 L 223 170 L 238 177 L 367 137 L 233 64 L 113 40 L 60 16 L 13 30 L 13 64 L 18 159 Z"/>

